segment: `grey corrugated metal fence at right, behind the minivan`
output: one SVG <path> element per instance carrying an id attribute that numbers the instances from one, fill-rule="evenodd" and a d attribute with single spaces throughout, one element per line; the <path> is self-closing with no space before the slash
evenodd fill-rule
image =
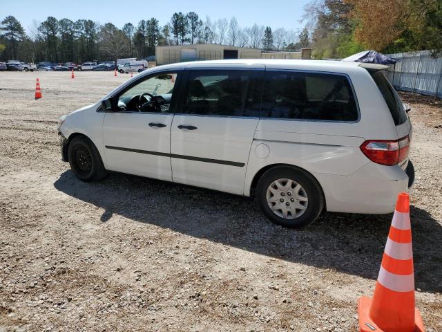
<path id="1" fill-rule="evenodd" d="M 442 98 L 442 57 L 432 57 L 429 50 L 387 55 L 396 60 L 387 72 L 396 89 Z"/>

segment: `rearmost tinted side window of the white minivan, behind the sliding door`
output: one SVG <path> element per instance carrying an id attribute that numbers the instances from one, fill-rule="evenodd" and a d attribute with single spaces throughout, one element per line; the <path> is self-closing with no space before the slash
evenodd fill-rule
<path id="1" fill-rule="evenodd" d="M 345 75 L 267 71 L 262 118 L 356 121 L 356 100 Z"/>

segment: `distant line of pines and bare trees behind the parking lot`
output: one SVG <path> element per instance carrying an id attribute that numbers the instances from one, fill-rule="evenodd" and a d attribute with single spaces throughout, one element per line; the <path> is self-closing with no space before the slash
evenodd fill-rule
<path id="1" fill-rule="evenodd" d="M 196 12 L 175 12 L 164 26 L 151 19 L 124 24 L 100 24 L 90 19 L 48 17 L 26 33 L 13 16 L 0 24 L 0 59 L 53 63 L 112 60 L 118 57 L 145 59 L 155 55 L 155 46 L 182 44 L 227 44 L 264 50 L 296 50 L 310 44 L 307 29 L 286 30 L 253 24 L 242 27 L 235 17 L 212 21 Z"/>

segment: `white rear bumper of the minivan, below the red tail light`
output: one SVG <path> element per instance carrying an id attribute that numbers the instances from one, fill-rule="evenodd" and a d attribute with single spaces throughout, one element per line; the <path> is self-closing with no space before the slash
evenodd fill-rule
<path id="1" fill-rule="evenodd" d="M 327 211 L 366 214 L 394 212 L 400 192 L 410 192 L 414 167 L 367 163 L 350 176 L 314 174 L 323 187 Z"/>

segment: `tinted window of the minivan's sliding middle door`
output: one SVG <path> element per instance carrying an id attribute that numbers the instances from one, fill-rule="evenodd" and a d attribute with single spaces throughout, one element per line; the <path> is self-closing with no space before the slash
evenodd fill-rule
<path id="1" fill-rule="evenodd" d="M 207 116 L 255 116 L 260 113 L 262 72 L 191 71 L 183 113 Z"/>

